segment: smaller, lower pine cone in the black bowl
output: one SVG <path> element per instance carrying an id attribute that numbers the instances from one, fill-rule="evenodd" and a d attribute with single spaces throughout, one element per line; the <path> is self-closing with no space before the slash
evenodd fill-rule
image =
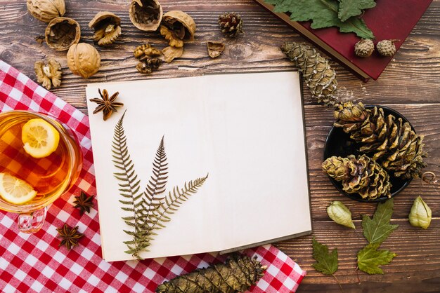
<path id="1" fill-rule="evenodd" d="M 323 162 L 323 170 L 330 177 L 342 181 L 342 189 L 347 193 L 359 193 L 368 200 L 391 197 L 392 185 L 387 171 L 368 156 L 332 156 Z"/>

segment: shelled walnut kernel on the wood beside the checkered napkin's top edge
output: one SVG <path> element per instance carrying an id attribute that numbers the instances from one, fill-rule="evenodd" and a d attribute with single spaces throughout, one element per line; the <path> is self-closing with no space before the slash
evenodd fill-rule
<path id="1" fill-rule="evenodd" d="M 47 62 L 37 61 L 34 64 L 34 69 L 38 83 L 42 83 L 46 90 L 60 86 L 61 65 L 57 60 L 50 58 Z"/>

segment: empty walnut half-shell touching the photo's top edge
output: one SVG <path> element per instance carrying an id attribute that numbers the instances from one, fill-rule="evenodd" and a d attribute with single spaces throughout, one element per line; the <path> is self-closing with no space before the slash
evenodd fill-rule
<path id="1" fill-rule="evenodd" d="M 159 27 L 162 13 L 162 6 L 157 0 L 133 0 L 129 8 L 131 22 L 146 32 L 154 32 Z"/>

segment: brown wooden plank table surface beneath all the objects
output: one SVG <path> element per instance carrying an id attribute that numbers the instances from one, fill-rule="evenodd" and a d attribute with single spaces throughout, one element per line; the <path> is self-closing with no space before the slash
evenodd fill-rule
<path id="1" fill-rule="evenodd" d="M 162 0 L 164 11 L 182 10 L 193 16 L 198 31 L 195 41 L 187 43 L 185 53 L 171 64 L 164 64 L 151 75 L 139 74 L 132 51 L 141 43 L 164 48 L 166 43 L 154 32 L 142 32 L 131 24 L 129 1 L 66 0 L 65 16 L 75 18 L 82 29 L 82 41 L 93 43 L 87 27 L 99 11 L 112 11 L 122 18 L 123 36 L 114 46 L 98 48 L 101 69 L 89 80 L 73 75 L 67 68 L 65 52 L 39 45 L 35 36 L 44 34 L 46 25 L 32 18 L 23 0 L 0 0 L 0 59 L 27 74 L 34 81 L 34 62 L 54 56 L 63 66 L 63 83 L 53 93 L 86 113 L 85 86 L 102 81 L 127 81 L 175 76 L 193 76 L 215 72 L 280 71 L 292 63 L 280 52 L 284 41 L 304 39 L 264 11 L 252 0 L 199 1 Z M 225 11 L 237 11 L 244 20 L 245 34 L 237 39 L 222 36 L 216 24 Z M 212 60 L 207 56 L 206 41 L 223 40 L 226 50 Z M 429 153 L 426 170 L 440 175 L 440 0 L 434 0 L 425 15 L 403 43 L 380 79 L 363 83 L 333 60 L 342 100 L 354 99 L 364 104 L 380 104 L 401 112 L 415 130 L 425 135 Z M 233 97 L 233 93 L 231 93 Z M 341 196 L 321 171 L 323 146 L 333 122 L 332 111 L 316 104 L 304 90 L 306 139 L 313 236 L 330 248 L 337 247 L 339 270 L 335 275 L 344 292 L 440 292 L 440 189 L 439 184 L 422 185 L 413 180 L 394 200 L 393 224 L 399 224 L 382 247 L 395 252 L 391 264 L 383 266 L 384 275 L 356 271 L 356 254 L 365 245 L 361 214 L 372 214 L 375 205 L 357 203 Z M 432 209 L 432 223 L 422 230 L 410 226 L 408 213 L 416 196 L 422 196 Z M 332 200 L 342 200 L 353 213 L 356 231 L 332 222 L 326 207 Z M 278 243 L 307 271 L 297 292 L 340 292 L 332 276 L 318 273 L 311 266 L 311 238 L 305 236 Z"/>

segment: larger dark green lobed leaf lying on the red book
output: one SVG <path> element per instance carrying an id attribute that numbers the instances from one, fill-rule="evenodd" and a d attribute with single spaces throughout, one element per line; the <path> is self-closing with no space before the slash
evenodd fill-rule
<path id="1" fill-rule="evenodd" d="M 293 21 L 311 20 L 312 29 L 323 27 L 339 27 L 340 32 L 354 32 L 363 39 L 375 39 L 373 32 L 361 18 L 351 17 L 342 22 L 337 13 L 337 0 L 266 0 L 275 6 L 275 12 L 289 12 Z"/>

